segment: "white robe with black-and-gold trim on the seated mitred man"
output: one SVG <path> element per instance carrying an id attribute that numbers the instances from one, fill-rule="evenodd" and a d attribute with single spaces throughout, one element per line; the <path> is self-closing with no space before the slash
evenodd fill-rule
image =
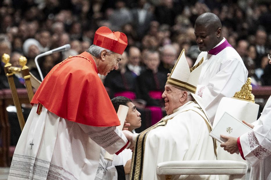
<path id="1" fill-rule="evenodd" d="M 164 161 L 216 160 L 216 148 L 209 136 L 211 126 L 207 124 L 209 120 L 200 106 L 189 101 L 137 135 L 130 179 L 165 179 L 156 175 L 157 164 Z M 182 175 L 172 179 L 218 179 L 218 176 Z"/>

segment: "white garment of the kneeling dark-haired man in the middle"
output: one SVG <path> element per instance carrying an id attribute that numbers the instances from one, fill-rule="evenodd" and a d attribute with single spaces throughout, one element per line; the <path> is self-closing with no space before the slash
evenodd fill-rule
<path id="1" fill-rule="evenodd" d="M 113 161 L 104 159 L 105 150 L 101 148 L 100 160 L 95 180 L 129 180 L 129 175 L 125 175 L 124 166 L 132 158 L 132 150 L 125 149 L 118 155 L 114 155 Z M 125 177 L 124 177 L 125 176 Z"/>

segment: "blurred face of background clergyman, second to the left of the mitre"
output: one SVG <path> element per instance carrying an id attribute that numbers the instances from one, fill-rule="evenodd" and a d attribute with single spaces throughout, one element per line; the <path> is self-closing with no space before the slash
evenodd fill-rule
<path id="1" fill-rule="evenodd" d="M 148 69 L 156 73 L 160 64 L 159 53 L 157 51 L 149 51 L 146 56 L 145 64 Z"/>

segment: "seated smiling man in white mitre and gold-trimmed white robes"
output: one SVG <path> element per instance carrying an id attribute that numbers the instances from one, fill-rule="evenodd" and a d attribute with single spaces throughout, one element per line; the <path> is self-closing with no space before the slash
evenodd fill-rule
<path id="1" fill-rule="evenodd" d="M 202 60 L 203 61 L 203 60 Z M 157 180 L 157 164 L 164 161 L 216 160 L 216 142 L 209 136 L 212 127 L 201 98 L 195 95 L 202 61 L 189 69 L 184 50 L 179 56 L 162 97 L 168 114 L 136 136 L 130 180 Z M 217 179 L 216 175 L 174 177 Z"/>

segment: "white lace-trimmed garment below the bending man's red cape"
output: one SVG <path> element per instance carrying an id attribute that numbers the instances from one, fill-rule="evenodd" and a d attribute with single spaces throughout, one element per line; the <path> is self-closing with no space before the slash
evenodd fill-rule
<path id="1" fill-rule="evenodd" d="M 113 154 L 127 145 L 128 140 L 115 126 L 79 124 L 44 106 L 40 115 L 36 111 L 34 104 L 12 158 L 9 180 L 94 179 L 100 146 Z"/>

